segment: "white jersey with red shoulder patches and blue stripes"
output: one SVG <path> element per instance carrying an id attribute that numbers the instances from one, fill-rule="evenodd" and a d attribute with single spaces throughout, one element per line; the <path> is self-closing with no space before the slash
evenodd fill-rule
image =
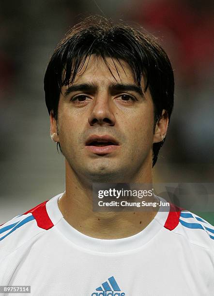
<path id="1" fill-rule="evenodd" d="M 44 296 L 214 295 L 210 223 L 159 210 L 136 235 L 98 239 L 65 221 L 61 194 L 0 226 L 0 285 Z"/>

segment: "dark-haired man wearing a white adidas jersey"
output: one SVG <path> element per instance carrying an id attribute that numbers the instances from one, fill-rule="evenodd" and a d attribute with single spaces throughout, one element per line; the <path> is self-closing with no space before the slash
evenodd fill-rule
<path id="1" fill-rule="evenodd" d="M 92 209 L 93 183 L 153 182 L 173 107 L 164 50 L 140 30 L 88 18 L 57 46 L 44 82 L 65 192 L 1 225 L 0 285 L 32 295 L 212 295 L 208 222 L 172 205 Z"/>

